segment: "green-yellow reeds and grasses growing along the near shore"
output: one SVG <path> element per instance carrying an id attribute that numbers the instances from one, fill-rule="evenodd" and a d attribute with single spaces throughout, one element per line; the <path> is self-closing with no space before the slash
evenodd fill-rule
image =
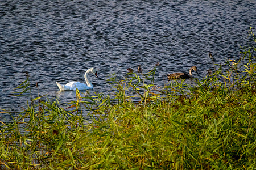
<path id="1" fill-rule="evenodd" d="M 156 87 L 156 65 L 113 75 L 108 94 L 76 90 L 65 105 L 31 97 L 13 122 L 0 121 L 0 169 L 255 169 L 255 50 L 213 63 L 195 86 Z M 16 90 L 31 93 L 29 79 Z"/>

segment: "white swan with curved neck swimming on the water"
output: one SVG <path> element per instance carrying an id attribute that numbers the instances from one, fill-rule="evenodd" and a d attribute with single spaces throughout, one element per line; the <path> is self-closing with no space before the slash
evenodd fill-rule
<path id="1" fill-rule="evenodd" d="M 97 71 L 96 71 L 95 69 L 93 69 L 93 68 L 88 69 L 88 70 L 85 72 L 85 74 L 84 74 L 84 79 L 85 79 L 85 82 L 86 82 L 87 85 L 84 84 L 84 83 L 79 83 L 79 82 L 69 82 L 69 83 L 67 83 L 67 84 L 65 84 L 65 85 L 60 84 L 60 83 L 58 83 L 58 82 L 56 82 L 56 83 L 57 83 L 57 85 L 58 85 L 58 87 L 59 87 L 60 90 L 76 90 L 76 88 L 77 88 L 78 90 L 88 90 L 88 89 L 92 89 L 92 88 L 93 88 L 93 85 L 92 85 L 92 83 L 90 83 L 90 81 L 89 81 L 88 78 L 87 78 L 87 74 L 88 74 L 88 73 L 93 73 L 94 75 L 96 75 L 96 76 L 98 77 Z"/>

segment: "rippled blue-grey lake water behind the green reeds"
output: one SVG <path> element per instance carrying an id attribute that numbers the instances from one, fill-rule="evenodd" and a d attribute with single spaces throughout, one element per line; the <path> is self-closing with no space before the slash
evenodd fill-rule
<path id="1" fill-rule="evenodd" d="M 30 100 L 12 96 L 26 72 L 33 96 L 38 83 L 40 95 L 62 102 L 76 94 L 60 92 L 55 82 L 85 82 L 90 67 L 98 70 L 98 78 L 89 75 L 92 93 L 110 90 L 106 79 L 113 73 L 122 78 L 138 65 L 146 73 L 156 62 L 158 86 L 167 83 L 166 74 L 193 65 L 203 77 L 213 69 L 209 52 L 220 64 L 251 45 L 255 9 L 255 0 L 0 1 L 0 108 L 20 111 Z"/>

